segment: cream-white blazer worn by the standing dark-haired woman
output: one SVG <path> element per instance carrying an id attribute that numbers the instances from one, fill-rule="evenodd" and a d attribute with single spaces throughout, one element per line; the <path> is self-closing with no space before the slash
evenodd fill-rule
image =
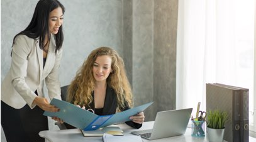
<path id="1" fill-rule="evenodd" d="M 47 60 L 43 68 L 43 50 L 39 47 L 39 39 L 19 35 L 15 39 L 12 52 L 11 67 L 1 84 L 1 101 L 20 109 L 26 104 L 35 107 L 33 101 L 43 97 L 43 80 L 48 89 L 48 96 L 60 99 L 60 82 L 58 68 L 62 58 L 62 48 L 55 53 L 55 39 L 50 38 Z"/>

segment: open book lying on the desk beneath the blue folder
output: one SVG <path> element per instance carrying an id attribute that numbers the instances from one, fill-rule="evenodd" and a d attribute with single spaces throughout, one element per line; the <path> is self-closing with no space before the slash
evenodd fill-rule
<path id="1" fill-rule="evenodd" d="M 107 126 L 107 127 L 92 130 L 92 131 L 84 131 L 84 130 L 81 130 L 81 131 L 84 136 L 103 136 L 104 133 L 112 134 L 115 136 L 123 136 L 123 130 L 121 130 L 116 125 L 111 125 L 111 126 Z"/>

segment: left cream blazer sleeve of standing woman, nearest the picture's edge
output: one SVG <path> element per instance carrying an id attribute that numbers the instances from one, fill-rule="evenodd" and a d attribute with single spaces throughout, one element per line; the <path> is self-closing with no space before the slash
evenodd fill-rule
<path id="1" fill-rule="evenodd" d="M 30 39 L 26 38 L 25 35 L 19 35 L 15 39 L 11 60 L 11 83 L 28 106 L 33 108 L 35 105 L 32 103 L 37 96 L 25 81 L 28 67 L 27 57 L 33 48 L 33 40 L 31 41 L 32 44 L 30 43 Z"/>

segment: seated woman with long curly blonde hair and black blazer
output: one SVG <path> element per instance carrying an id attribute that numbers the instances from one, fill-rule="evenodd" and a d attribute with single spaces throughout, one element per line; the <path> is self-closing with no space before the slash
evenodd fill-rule
<path id="1" fill-rule="evenodd" d="M 92 109 L 99 116 L 133 107 L 133 96 L 123 59 L 108 47 L 100 47 L 91 52 L 68 91 L 68 102 L 84 109 Z M 143 112 L 140 112 L 130 116 L 131 121 L 126 124 L 140 128 L 144 117 Z"/>

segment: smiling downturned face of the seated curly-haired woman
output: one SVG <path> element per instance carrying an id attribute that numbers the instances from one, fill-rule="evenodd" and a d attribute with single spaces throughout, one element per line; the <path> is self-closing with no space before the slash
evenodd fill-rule
<path id="1" fill-rule="evenodd" d="M 93 64 L 93 77 L 97 82 L 106 82 L 111 68 L 112 59 L 108 55 L 99 56 Z"/>

